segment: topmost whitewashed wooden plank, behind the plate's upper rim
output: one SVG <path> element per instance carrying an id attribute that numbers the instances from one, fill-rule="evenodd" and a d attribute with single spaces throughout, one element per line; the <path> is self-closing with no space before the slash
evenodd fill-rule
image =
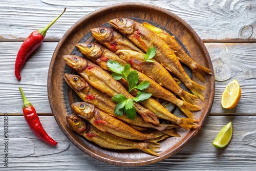
<path id="1" fill-rule="evenodd" d="M 46 40 L 59 40 L 80 18 L 102 7 L 126 1 L 0 2 L 0 41 L 24 40 L 32 31 L 48 25 L 64 7 L 67 11 L 49 29 Z M 184 19 L 205 41 L 255 41 L 256 8 L 253 1 L 144 1 Z"/>

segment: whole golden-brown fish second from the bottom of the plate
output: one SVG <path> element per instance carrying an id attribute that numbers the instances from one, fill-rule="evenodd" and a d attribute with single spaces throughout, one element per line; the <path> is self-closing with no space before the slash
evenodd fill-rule
<path id="1" fill-rule="evenodd" d="M 147 140 L 161 137 L 164 133 L 159 131 L 152 134 L 143 134 L 122 122 L 121 120 L 108 115 L 101 110 L 94 108 L 92 104 L 86 102 L 75 102 L 71 105 L 76 114 L 89 121 L 97 129 L 103 132 L 109 132 L 118 137 L 131 140 Z"/>

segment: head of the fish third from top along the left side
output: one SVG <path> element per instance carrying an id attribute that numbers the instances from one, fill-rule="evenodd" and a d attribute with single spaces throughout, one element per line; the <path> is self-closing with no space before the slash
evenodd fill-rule
<path id="1" fill-rule="evenodd" d="M 82 54 L 86 55 L 88 58 L 92 60 L 96 60 L 97 58 L 102 56 L 104 52 L 103 48 L 100 45 L 92 42 L 84 42 L 81 44 L 77 44 L 76 47 Z"/>

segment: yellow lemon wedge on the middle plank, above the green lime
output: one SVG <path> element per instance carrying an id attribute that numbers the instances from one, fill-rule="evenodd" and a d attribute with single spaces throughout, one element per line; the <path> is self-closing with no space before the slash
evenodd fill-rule
<path id="1" fill-rule="evenodd" d="M 239 82 L 234 79 L 227 84 L 221 98 L 222 108 L 233 109 L 237 106 L 241 98 L 241 88 Z"/>

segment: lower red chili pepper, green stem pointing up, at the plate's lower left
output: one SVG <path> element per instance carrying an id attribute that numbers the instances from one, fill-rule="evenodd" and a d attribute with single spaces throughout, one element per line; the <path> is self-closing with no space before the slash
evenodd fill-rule
<path id="1" fill-rule="evenodd" d="M 36 114 L 34 106 L 25 97 L 22 88 L 19 87 L 20 93 L 22 93 L 23 98 L 23 114 L 30 127 L 30 129 L 43 141 L 50 145 L 57 145 L 58 142 L 54 141 L 44 130 L 42 124 Z"/>

